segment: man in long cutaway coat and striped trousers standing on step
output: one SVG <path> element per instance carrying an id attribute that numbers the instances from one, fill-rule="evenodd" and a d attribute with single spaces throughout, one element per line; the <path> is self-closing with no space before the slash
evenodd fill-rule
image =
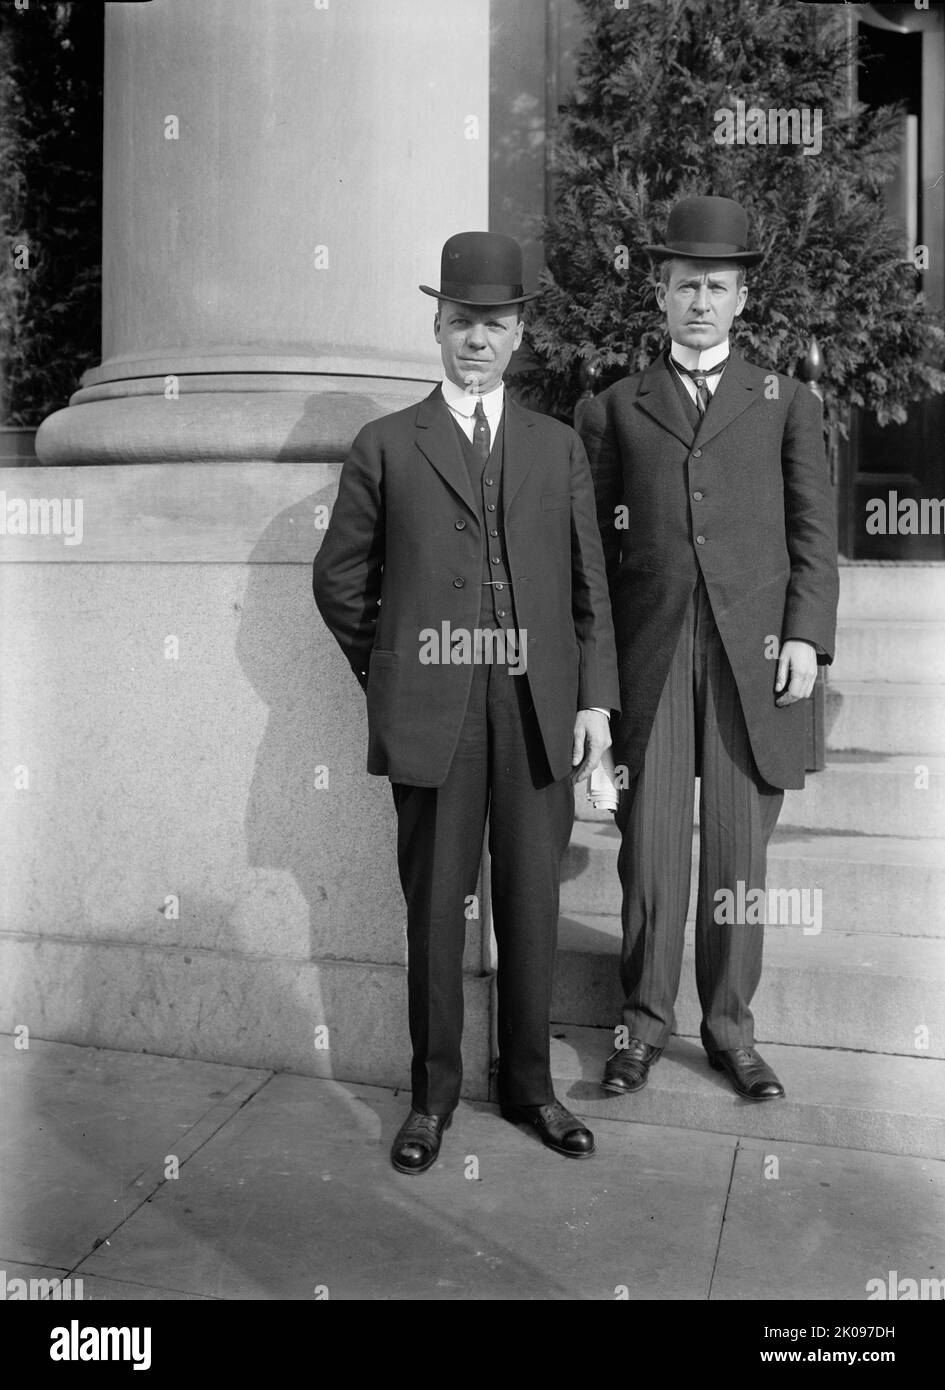
<path id="1" fill-rule="evenodd" d="M 763 924 L 743 909 L 748 920 L 732 920 L 731 906 L 767 901 L 784 788 L 805 781 L 803 702 L 817 663 L 832 659 L 821 407 L 800 382 L 730 349 L 745 267 L 760 259 L 738 203 L 677 203 L 666 245 L 646 250 L 662 261 L 670 348 L 581 420 L 617 634 L 614 760 L 627 778 L 616 813 L 625 1004 L 603 1086 L 645 1086 L 674 1029 L 698 776 L 702 1041 L 739 1095 L 774 1099 L 784 1087 L 755 1049 L 749 1008 Z"/>

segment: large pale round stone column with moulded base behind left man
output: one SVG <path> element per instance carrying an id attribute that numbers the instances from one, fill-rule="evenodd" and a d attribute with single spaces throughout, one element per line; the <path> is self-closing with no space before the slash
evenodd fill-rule
<path id="1" fill-rule="evenodd" d="M 103 360 L 40 460 L 338 457 L 416 399 L 417 285 L 488 225 L 488 0 L 110 4 Z"/>

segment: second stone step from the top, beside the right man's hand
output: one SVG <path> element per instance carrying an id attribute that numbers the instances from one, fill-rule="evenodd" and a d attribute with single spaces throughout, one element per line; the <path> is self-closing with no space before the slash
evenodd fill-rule
<path id="1" fill-rule="evenodd" d="M 848 619 L 837 632 L 828 681 L 945 681 L 945 623 Z"/>

